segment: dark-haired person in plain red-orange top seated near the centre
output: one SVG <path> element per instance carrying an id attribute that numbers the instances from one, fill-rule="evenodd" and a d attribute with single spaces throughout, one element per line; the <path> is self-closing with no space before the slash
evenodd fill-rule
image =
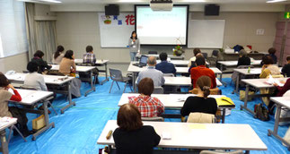
<path id="1" fill-rule="evenodd" d="M 196 82 L 198 78 L 201 76 L 208 76 L 211 79 L 211 89 L 215 89 L 216 81 L 215 81 L 215 73 L 213 70 L 206 67 L 206 60 L 203 56 L 198 56 L 196 59 L 197 67 L 192 67 L 190 69 L 190 77 L 193 88 L 196 88 Z"/>

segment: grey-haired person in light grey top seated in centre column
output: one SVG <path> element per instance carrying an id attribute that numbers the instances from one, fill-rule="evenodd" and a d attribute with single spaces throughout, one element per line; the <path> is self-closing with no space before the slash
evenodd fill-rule
<path id="1" fill-rule="evenodd" d="M 155 69 L 156 58 L 154 56 L 149 56 L 147 64 L 148 68 L 138 74 L 137 83 L 144 78 L 151 78 L 154 81 L 154 87 L 163 86 L 165 79 L 163 73 Z"/>

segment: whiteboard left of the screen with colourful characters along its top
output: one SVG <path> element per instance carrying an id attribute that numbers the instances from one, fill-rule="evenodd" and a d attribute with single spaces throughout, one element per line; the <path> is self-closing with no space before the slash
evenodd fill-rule
<path id="1" fill-rule="evenodd" d="M 99 27 L 101 47 L 127 47 L 128 39 L 135 30 L 135 14 L 105 15 L 105 13 L 99 13 Z"/>

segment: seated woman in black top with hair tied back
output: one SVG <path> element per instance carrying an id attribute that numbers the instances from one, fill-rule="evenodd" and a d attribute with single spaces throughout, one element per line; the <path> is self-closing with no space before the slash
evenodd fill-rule
<path id="1" fill-rule="evenodd" d="M 198 96 L 189 97 L 185 100 L 180 110 L 181 116 L 189 116 L 191 112 L 201 112 L 215 115 L 217 104 L 215 98 L 207 98 L 211 86 L 208 76 L 201 76 L 197 81 Z"/>

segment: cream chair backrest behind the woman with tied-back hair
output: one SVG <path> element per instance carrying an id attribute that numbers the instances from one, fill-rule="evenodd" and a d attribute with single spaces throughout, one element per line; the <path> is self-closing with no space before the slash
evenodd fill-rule
<path id="1" fill-rule="evenodd" d="M 189 114 L 188 123 L 215 123 L 215 115 L 200 112 L 193 112 Z"/>

